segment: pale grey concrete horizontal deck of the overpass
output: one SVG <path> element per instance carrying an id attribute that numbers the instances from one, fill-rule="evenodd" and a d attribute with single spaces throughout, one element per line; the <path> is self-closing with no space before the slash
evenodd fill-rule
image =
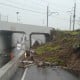
<path id="1" fill-rule="evenodd" d="M 24 31 L 27 35 L 31 32 L 44 32 L 50 33 L 52 28 L 47 28 L 45 26 L 36 26 L 36 25 L 28 25 L 28 24 L 18 24 L 18 23 L 10 23 L 10 22 L 0 22 L 0 30 L 12 30 L 12 31 Z"/>

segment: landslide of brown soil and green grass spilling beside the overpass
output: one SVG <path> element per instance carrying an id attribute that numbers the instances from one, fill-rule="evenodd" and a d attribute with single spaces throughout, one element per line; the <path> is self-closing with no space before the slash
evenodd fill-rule
<path id="1" fill-rule="evenodd" d="M 35 49 L 40 61 L 57 62 L 74 70 L 80 70 L 80 32 L 55 31 L 52 42 Z M 54 37 L 55 36 L 55 37 Z"/>

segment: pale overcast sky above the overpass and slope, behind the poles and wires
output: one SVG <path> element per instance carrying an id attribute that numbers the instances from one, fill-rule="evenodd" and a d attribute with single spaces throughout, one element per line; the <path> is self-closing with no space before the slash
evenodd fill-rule
<path id="1" fill-rule="evenodd" d="M 76 0 L 76 28 L 79 28 L 80 0 Z M 69 16 L 67 11 L 73 11 L 74 0 L 0 0 L 0 14 L 2 20 L 17 22 L 19 12 L 20 23 L 46 26 L 46 6 L 49 12 L 59 12 L 59 15 L 49 16 L 49 26 L 56 29 L 69 29 Z"/>

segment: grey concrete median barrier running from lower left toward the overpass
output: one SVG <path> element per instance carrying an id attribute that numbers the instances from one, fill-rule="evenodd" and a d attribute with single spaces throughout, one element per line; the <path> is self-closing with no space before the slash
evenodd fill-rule
<path id="1" fill-rule="evenodd" d="M 21 51 L 18 53 L 19 55 L 8 62 L 5 66 L 0 68 L 0 80 L 10 80 L 12 75 L 16 72 L 18 68 L 18 63 L 21 59 L 21 56 L 24 54 L 25 51 Z"/>

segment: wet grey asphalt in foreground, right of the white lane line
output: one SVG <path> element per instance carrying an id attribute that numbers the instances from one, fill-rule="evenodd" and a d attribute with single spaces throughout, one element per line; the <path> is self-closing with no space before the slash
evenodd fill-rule
<path id="1" fill-rule="evenodd" d="M 80 80 L 73 74 L 60 68 L 38 68 L 31 66 L 26 71 L 24 80 Z"/>

